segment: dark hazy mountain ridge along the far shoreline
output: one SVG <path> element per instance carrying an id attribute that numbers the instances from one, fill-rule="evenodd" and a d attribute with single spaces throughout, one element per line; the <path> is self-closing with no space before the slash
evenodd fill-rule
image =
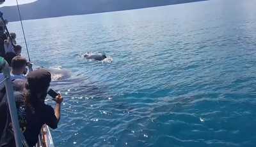
<path id="1" fill-rule="evenodd" d="M 34 3 L 21 4 L 23 20 L 102 13 L 107 11 L 132 10 L 170 4 L 190 3 L 205 0 L 38 0 Z M 17 6 L 0 8 L 4 18 L 9 21 L 19 20 Z"/>

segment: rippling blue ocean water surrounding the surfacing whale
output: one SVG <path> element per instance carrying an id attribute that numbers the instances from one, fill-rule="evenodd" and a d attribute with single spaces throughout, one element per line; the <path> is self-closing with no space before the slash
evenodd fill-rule
<path id="1" fill-rule="evenodd" d="M 65 99 L 55 145 L 256 146 L 255 6 L 212 0 L 24 21 L 35 67 L 71 74 L 52 82 Z M 8 26 L 24 45 L 19 22 Z"/>

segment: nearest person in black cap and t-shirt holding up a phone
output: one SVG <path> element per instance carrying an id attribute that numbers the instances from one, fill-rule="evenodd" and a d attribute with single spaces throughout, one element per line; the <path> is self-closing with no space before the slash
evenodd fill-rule
<path id="1" fill-rule="evenodd" d="M 54 97 L 55 109 L 45 104 L 47 90 L 51 83 L 51 73 L 45 69 L 31 71 L 27 75 L 25 105 L 26 105 L 26 130 L 24 136 L 29 146 L 35 146 L 38 141 L 38 134 L 44 124 L 52 129 L 58 127 L 61 117 L 60 94 Z"/>

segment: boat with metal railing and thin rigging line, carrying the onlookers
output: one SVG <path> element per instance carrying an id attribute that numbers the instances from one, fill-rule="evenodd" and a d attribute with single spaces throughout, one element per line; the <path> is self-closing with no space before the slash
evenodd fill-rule
<path id="1" fill-rule="evenodd" d="M 0 4 L 4 3 L 5 0 L 0 0 Z M 17 8 L 19 10 L 19 3 L 17 1 Z M 19 11 L 19 16 L 20 16 L 20 11 Z M 0 11 L 0 19 L 2 22 L 4 22 L 3 18 L 3 13 Z M 20 23 L 22 25 L 22 19 L 20 17 Z M 8 31 L 8 28 L 6 27 L 6 24 L 4 24 L 4 31 L 6 32 L 7 36 L 10 36 L 10 33 Z M 29 52 L 28 52 L 28 45 L 26 43 L 26 38 L 24 34 L 24 29 L 22 25 L 22 31 L 25 39 L 25 44 L 26 44 L 26 49 L 28 53 L 28 59 L 29 62 L 31 62 L 30 57 L 29 57 Z M 30 67 L 29 71 L 33 71 L 32 67 Z M 10 116 L 11 116 L 11 121 L 12 121 L 12 130 L 15 138 L 15 146 L 16 147 L 27 147 L 28 144 L 26 143 L 26 139 L 23 136 L 21 130 L 20 130 L 20 125 L 19 125 L 19 120 L 18 120 L 18 115 L 17 115 L 17 108 L 16 104 L 14 101 L 14 96 L 13 96 L 13 87 L 12 87 L 12 82 L 10 80 L 10 68 L 8 67 L 8 63 L 6 60 L 4 60 L 3 57 L 0 57 L 0 73 L 3 73 L 4 79 L 0 81 L 1 83 L 4 83 L 4 87 L 6 88 L 6 99 L 8 102 L 8 108 L 10 111 Z M 0 136 L 1 137 L 1 136 Z M 43 125 L 41 132 L 38 136 L 38 143 L 36 144 L 36 147 L 54 147 L 54 142 L 51 136 L 51 131 L 49 130 L 49 127 L 47 125 Z"/>

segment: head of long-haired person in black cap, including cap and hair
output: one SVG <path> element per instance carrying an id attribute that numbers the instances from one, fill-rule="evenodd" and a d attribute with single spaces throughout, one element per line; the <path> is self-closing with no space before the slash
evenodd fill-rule
<path id="1" fill-rule="evenodd" d="M 26 82 L 26 105 L 36 108 L 44 104 L 47 90 L 51 83 L 51 73 L 45 69 L 31 71 L 27 76 Z"/>

